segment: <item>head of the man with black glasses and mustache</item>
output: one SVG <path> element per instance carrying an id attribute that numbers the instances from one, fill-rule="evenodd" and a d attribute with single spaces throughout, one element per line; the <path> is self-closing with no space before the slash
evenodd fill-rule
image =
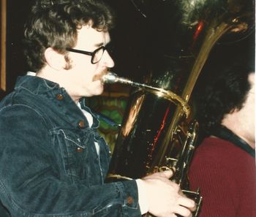
<path id="1" fill-rule="evenodd" d="M 25 25 L 30 70 L 59 83 L 75 100 L 101 94 L 102 84 L 95 77 L 113 67 L 112 58 L 104 48 L 94 58 L 77 50 L 93 53 L 107 45 L 112 27 L 113 14 L 102 1 L 37 0 Z"/>

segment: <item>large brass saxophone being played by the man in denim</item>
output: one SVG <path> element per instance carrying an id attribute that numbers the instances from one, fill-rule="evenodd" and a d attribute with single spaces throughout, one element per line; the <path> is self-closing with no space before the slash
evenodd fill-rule
<path id="1" fill-rule="evenodd" d="M 158 45 L 152 47 L 157 58 L 145 83 L 111 72 L 102 77 L 103 83 L 134 87 L 106 182 L 142 178 L 175 167 L 172 180 L 187 197 L 195 200 L 197 210 L 193 216 L 197 216 L 202 197 L 198 189 L 190 191 L 187 178 L 198 130 L 189 98 L 216 42 L 223 35 L 245 32 L 254 23 L 254 1 L 132 0 L 132 3 L 148 19 L 155 33 L 159 34 L 156 29 L 159 20 L 167 23 L 163 25 L 165 32 L 160 37 L 155 35 Z M 169 38 L 170 43 L 166 45 Z"/>

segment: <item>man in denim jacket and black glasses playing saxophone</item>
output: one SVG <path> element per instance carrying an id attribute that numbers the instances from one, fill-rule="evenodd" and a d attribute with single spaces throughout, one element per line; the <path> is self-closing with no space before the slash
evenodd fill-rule
<path id="1" fill-rule="evenodd" d="M 104 183 L 110 151 L 83 97 L 102 94 L 114 62 L 102 1 L 36 1 L 20 77 L 0 104 L 1 216 L 191 216 L 171 171 Z"/>

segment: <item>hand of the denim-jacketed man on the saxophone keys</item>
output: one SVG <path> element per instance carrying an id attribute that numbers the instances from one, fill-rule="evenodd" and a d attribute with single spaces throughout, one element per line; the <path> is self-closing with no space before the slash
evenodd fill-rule
<path id="1" fill-rule="evenodd" d="M 195 202 L 182 194 L 176 183 L 170 181 L 171 170 L 156 172 L 142 178 L 148 197 L 148 212 L 157 217 L 171 217 L 175 214 L 190 217 Z"/>

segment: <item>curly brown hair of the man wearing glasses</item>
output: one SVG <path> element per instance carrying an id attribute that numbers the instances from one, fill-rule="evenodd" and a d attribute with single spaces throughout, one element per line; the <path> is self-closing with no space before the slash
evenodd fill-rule
<path id="1" fill-rule="evenodd" d="M 45 66 L 48 47 L 67 53 L 65 47 L 75 46 L 77 29 L 89 22 L 98 31 L 108 31 L 113 12 L 99 0 L 37 0 L 25 24 L 24 54 L 30 70 Z"/>

